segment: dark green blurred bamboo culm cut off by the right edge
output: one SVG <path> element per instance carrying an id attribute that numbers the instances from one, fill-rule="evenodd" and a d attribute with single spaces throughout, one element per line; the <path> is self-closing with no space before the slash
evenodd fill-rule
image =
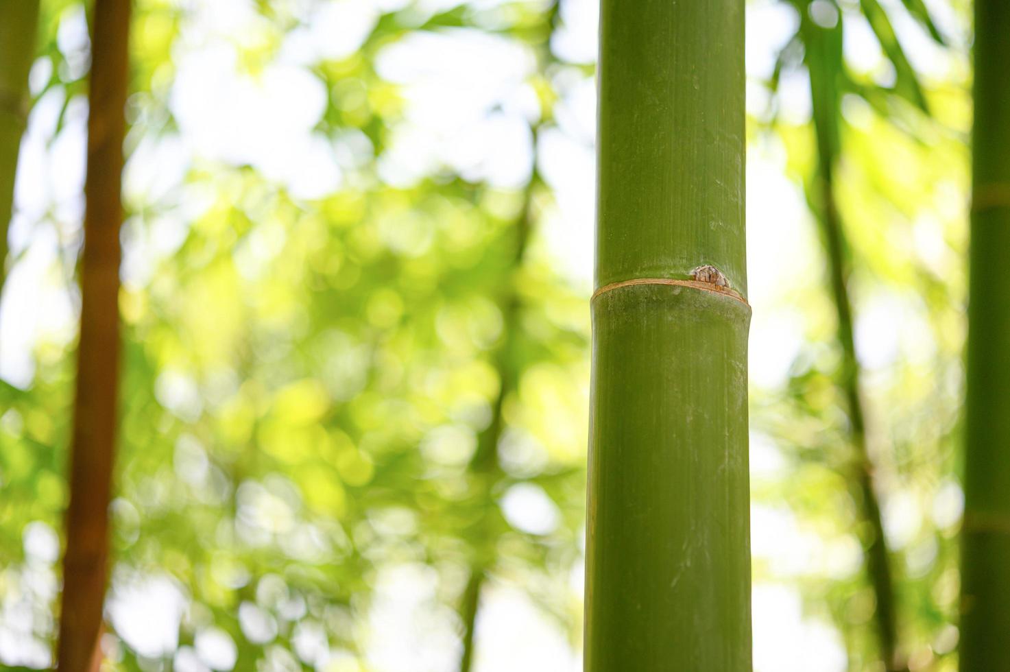
<path id="1" fill-rule="evenodd" d="M 975 3 L 961 669 L 1010 670 L 1010 3 Z"/>

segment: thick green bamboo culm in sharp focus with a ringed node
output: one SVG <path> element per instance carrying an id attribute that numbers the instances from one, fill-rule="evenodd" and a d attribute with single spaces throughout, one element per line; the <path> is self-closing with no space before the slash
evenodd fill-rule
<path id="1" fill-rule="evenodd" d="M 742 0 L 602 0 L 585 669 L 751 668 Z"/>

